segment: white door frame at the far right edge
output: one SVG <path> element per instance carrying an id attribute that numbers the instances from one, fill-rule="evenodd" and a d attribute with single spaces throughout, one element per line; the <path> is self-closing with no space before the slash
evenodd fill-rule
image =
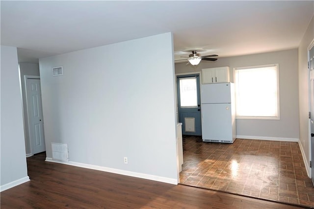
<path id="1" fill-rule="evenodd" d="M 308 56 L 308 63 L 310 62 L 310 50 L 312 49 L 312 48 L 314 48 L 314 39 L 312 40 L 312 42 L 311 42 L 311 44 L 309 45 L 309 47 L 308 47 L 308 54 L 307 54 L 307 56 Z M 311 111 L 313 111 L 313 109 L 312 109 L 312 105 L 311 105 L 311 72 L 310 72 L 310 70 L 309 70 L 309 68 L 307 69 L 307 71 L 308 71 L 308 100 L 309 100 L 309 110 L 311 110 Z M 312 162 L 312 166 L 314 166 L 313 164 L 314 164 L 314 159 L 312 158 L 312 156 L 313 156 L 313 153 L 312 153 L 312 137 L 311 137 L 311 118 L 309 118 L 309 126 L 308 126 L 308 128 L 309 128 L 309 160 L 310 160 L 310 162 Z M 313 147 L 314 147 L 314 145 L 313 145 Z M 308 162 L 308 163 L 310 163 L 310 162 Z M 310 165 L 308 164 L 308 165 L 305 165 L 305 167 L 306 168 L 309 168 L 309 177 L 311 178 L 312 177 L 312 168 L 310 167 Z M 313 182 L 313 180 L 312 180 L 312 182 Z"/>

